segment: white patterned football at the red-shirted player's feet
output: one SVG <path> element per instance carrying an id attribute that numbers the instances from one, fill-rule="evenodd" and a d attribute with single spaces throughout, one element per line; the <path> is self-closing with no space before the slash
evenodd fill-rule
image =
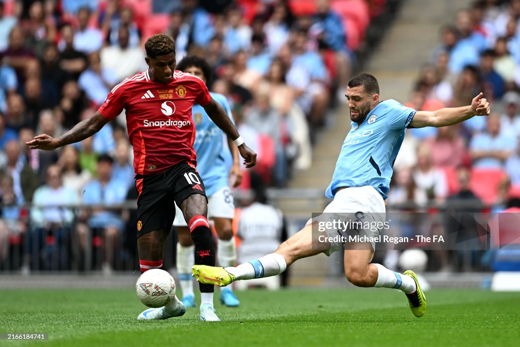
<path id="1" fill-rule="evenodd" d="M 162 307 L 175 297 L 175 280 L 166 271 L 155 268 L 143 273 L 135 284 L 137 297 L 148 307 Z"/>

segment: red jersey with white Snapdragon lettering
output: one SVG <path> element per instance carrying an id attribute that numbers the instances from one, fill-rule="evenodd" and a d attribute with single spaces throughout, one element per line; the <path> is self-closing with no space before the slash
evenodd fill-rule
<path id="1" fill-rule="evenodd" d="M 175 71 L 173 80 L 164 84 L 150 80 L 147 70 L 116 85 L 99 113 L 113 120 L 126 110 L 134 171 L 154 175 L 183 160 L 197 165 L 191 107 L 206 106 L 210 100 L 204 82 L 192 74 Z"/>

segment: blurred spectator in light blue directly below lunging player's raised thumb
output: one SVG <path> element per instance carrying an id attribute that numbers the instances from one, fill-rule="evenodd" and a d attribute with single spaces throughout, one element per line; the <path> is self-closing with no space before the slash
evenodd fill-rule
<path id="1" fill-rule="evenodd" d="M 487 117 L 486 132 L 471 139 L 470 154 L 478 169 L 502 169 L 516 146 L 516 139 L 500 132 L 500 117 Z"/>

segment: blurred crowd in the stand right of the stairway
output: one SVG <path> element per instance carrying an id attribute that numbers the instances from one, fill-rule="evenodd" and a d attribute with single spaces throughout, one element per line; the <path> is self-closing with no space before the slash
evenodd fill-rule
<path id="1" fill-rule="evenodd" d="M 389 204 L 473 200 L 500 211 L 520 196 L 520 0 L 479 0 L 459 10 L 440 30 L 407 106 L 470 105 L 479 92 L 491 104 L 489 117 L 407 131 Z"/>

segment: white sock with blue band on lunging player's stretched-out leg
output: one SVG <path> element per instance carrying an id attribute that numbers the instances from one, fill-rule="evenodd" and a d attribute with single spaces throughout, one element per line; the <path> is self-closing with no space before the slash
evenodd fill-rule
<path id="1" fill-rule="evenodd" d="M 271 253 L 237 267 L 226 267 L 225 270 L 239 280 L 276 276 L 284 272 L 285 268 L 287 264 L 283 256 Z"/>

